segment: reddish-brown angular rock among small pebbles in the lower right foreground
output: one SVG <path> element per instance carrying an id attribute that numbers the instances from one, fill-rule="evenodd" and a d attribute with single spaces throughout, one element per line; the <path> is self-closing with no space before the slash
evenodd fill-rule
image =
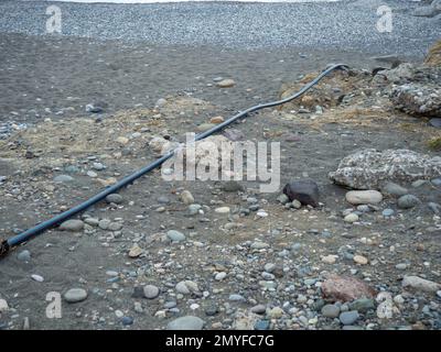
<path id="1" fill-rule="evenodd" d="M 322 293 L 331 300 L 349 301 L 358 298 L 374 298 L 376 292 L 366 283 L 349 276 L 331 275 L 322 284 Z"/>

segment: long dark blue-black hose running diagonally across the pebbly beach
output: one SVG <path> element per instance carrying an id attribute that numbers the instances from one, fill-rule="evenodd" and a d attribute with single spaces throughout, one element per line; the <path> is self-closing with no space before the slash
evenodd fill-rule
<path id="1" fill-rule="evenodd" d="M 216 133 L 216 132 L 223 130 L 227 125 L 232 124 L 236 120 L 247 116 L 250 112 L 254 112 L 254 111 L 257 111 L 257 110 L 260 110 L 260 109 L 265 109 L 265 108 L 271 108 L 271 107 L 280 106 L 282 103 L 289 102 L 289 101 L 300 97 L 306 90 L 309 90 L 311 87 L 315 86 L 323 77 L 325 77 L 327 74 L 330 74 L 331 72 L 333 72 L 334 69 L 337 69 L 337 68 L 347 68 L 347 66 L 343 65 L 343 64 L 337 64 L 337 65 L 330 66 L 324 72 L 322 72 L 318 77 L 315 77 L 314 80 L 310 81 L 302 89 L 300 89 L 297 94 L 294 94 L 294 95 L 292 95 L 292 96 L 290 96 L 290 97 L 288 97 L 286 99 L 282 99 L 282 100 L 261 103 L 261 105 L 248 108 L 247 110 L 237 113 L 236 116 L 234 116 L 234 117 L 229 118 L 228 120 L 215 125 L 214 128 L 212 128 L 212 129 L 209 129 L 209 130 L 207 130 L 207 131 L 205 131 L 203 133 L 196 134 L 195 135 L 195 141 L 203 140 L 203 139 L 212 135 L 213 133 Z M 32 239 L 33 237 L 46 231 L 47 229 L 51 229 L 54 226 L 57 226 L 57 224 L 62 223 L 63 221 L 69 219 L 71 217 L 73 217 L 73 216 L 86 210 L 90 206 L 97 204 L 98 201 L 101 201 L 108 195 L 114 194 L 114 193 L 118 191 L 120 188 L 131 184 L 137 178 L 146 175 L 147 173 L 151 172 L 152 169 L 157 168 L 162 163 L 164 163 L 165 161 L 171 158 L 175 151 L 176 150 L 168 152 L 165 155 L 161 156 L 160 158 L 158 158 L 153 163 L 147 165 L 146 167 L 137 170 L 136 173 L 133 173 L 133 174 L 131 174 L 129 176 L 126 176 L 125 178 L 122 178 L 121 180 L 116 183 L 115 185 L 101 190 L 99 194 L 97 194 L 94 197 L 87 199 L 86 201 L 75 206 L 74 208 L 71 208 L 71 209 L 68 209 L 68 210 L 66 210 L 66 211 L 53 217 L 50 220 L 41 222 L 41 223 L 36 224 L 35 227 L 33 227 L 33 228 L 31 228 L 31 229 L 29 229 L 29 230 L 26 230 L 26 231 L 24 231 L 24 232 L 22 232 L 22 233 L 20 233 L 18 235 L 14 235 L 14 237 L 3 241 L 1 243 L 1 245 L 0 245 L 0 256 L 2 256 L 3 254 L 8 253 L 11 248 L 17 246 L 17 245 L 19 245 L 19 244 Z"/>

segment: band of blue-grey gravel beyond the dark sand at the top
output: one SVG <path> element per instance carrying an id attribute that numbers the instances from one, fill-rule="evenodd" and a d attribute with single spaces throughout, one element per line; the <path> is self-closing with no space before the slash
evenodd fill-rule
<path id="1" fill-rule="evenodd" d="M 420 4 L 383 1 L 394 10 L 394 31 L 379 33 L 375 1 L 336 3 L 192 2 L 161 4 L 56 3 L 63 35 L 148 41 L 161 45 L 262 48 L 318 46 L 421 55 L 439 23 L 410 15 Z M 44 34 L 49 2 L 2 1 L 0 32 Z M 406 45 L 404 45 L 406 43 Z"/>

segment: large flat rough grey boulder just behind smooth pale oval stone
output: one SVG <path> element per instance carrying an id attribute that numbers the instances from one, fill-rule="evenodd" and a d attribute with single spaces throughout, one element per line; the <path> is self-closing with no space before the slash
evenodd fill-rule
<path id="1" fill-rule="evenodd" d="M 380 189 L 387 182 L 402 184 L 440 175 L 441 156 L 409 150 L 368 148 L 344 157 L 329 176 L 335 184 L 354 189 Z"/>

